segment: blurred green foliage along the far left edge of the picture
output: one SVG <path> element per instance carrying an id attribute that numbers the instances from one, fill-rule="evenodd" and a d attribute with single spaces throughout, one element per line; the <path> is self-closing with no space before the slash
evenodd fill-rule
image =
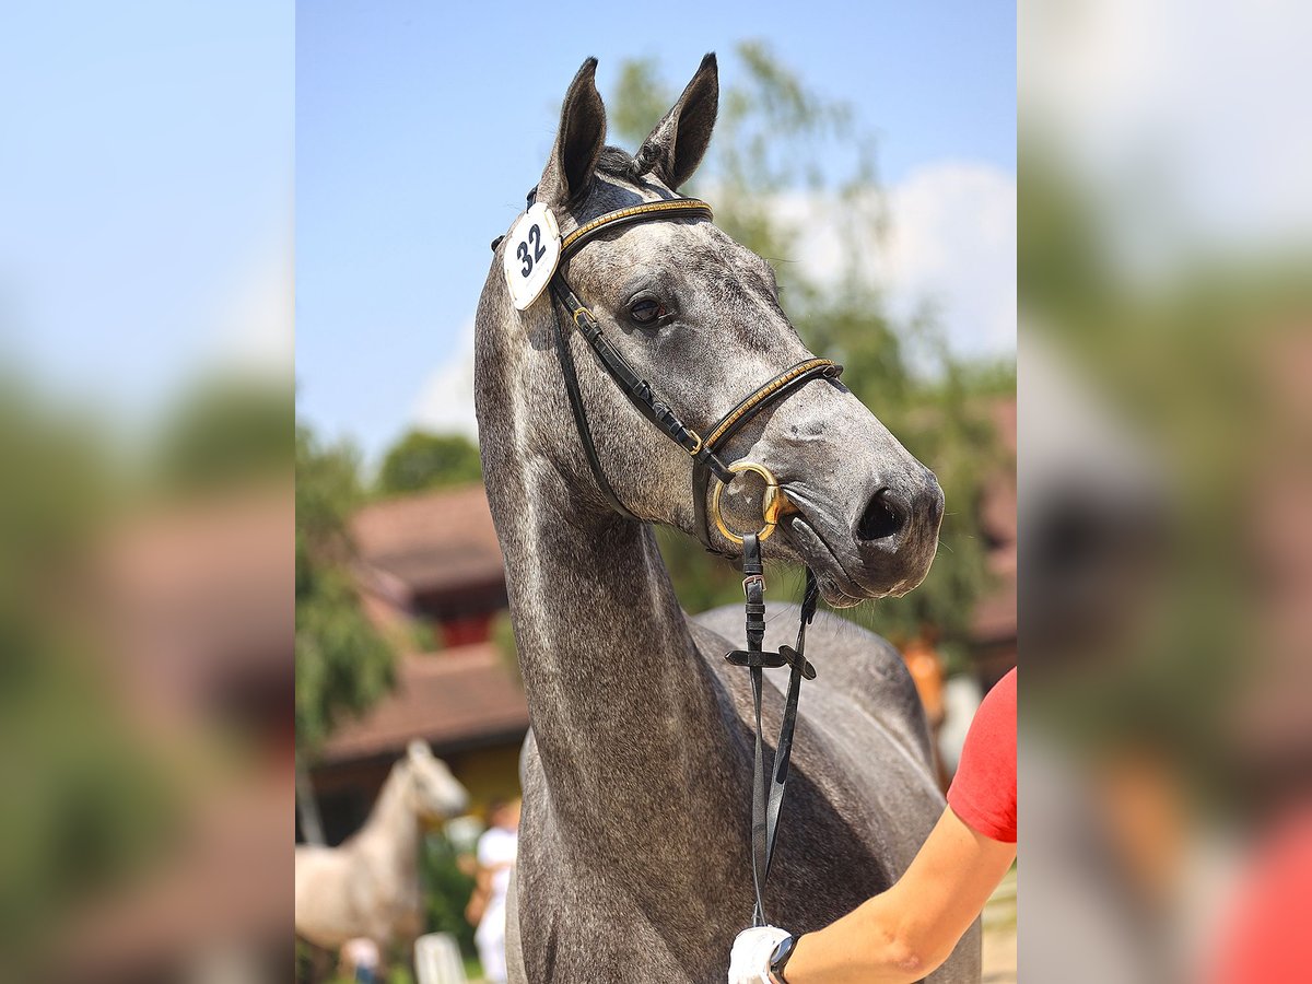
<path id="1" fill-rule="evenodd" d="M 67 950 L 70 911 L 165 862 L 182 820 L 184 791 L 135 727 L 123 653 L 106 643 L 121 626 L 104 625 L 97 586 L 115 569 L 106 541 L 127 501 L 114 437 L 105 419 L 68 412 L 0 367 L 5 979 L 45 977 L 35 964 Z"/>

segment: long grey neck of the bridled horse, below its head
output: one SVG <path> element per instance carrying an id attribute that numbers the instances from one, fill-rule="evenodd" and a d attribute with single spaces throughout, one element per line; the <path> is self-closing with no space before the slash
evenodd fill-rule
<path id="1" fill-rule="evenodd" d="M 655 534 L 581 508 L 559 470 L 516 446 L 523 433 L 513 421 L 518 401 L 493 408 L 492 390 L 479 391 L 484 478 L 558 821 L 631 844 L 668 821 L 670 802 L 736 808 L 736 791 L 716 783 L 732 773 L 715 768 L 716 756 L 735 753 L 728 711 Z M 567 430 L 564 440 L 577 440 Z M 660 838 L 680 836 L 670 827 Z"/>

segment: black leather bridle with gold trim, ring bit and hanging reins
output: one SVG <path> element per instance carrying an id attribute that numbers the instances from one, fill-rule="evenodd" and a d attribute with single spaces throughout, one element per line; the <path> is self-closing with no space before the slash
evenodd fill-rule
<path id="1" fill-rule="evenodd" d="M 534 193 L 529 194 L 531 205 Z M 613 232 L 625 226 L 642 222 L 655 222 L 663 219 L 707 219 L 712 218 L 711 206 L 695 198 L 673 198 L 659 202 L 644 202 L 627 209 L 619 209 L 600 215 L 585 222 L 579 228 L 564 236 L 560 241 L 560 257 L 556 270 L 551 278 L 550 290 L 555 303 L 559 304 L 555 316 L 555 344 L 556 356 L 560 361 L 560 371 L 564 375 L 565 391 L 569 396 L 569 408 L 573 412 L 575 428 L 592 468 L 593 479 L 601 489 L 606 502 L 621 516 L 643 522 L 632 513 L 615 495 L 614 487 L 606 478 L 601 467 L 601 457 L 592 440 L 592 429 L 588 426 L 588 415 L 583 405 L 583 395 L 579 390 L 579 374 L 575 367 L 573 356 L 569 352 L 565 325 L 572 321 L 579 333 L 588 342 L 598 365 L 615 382 L 621 392 L 638 408 L 661 433 L 676 445 L 682 447 L 693 459 L 693 508 L 697 517 L 697 533 L 702 544 L 711 552 L 723 552 L 714 547 L 710 533 L 710 522 L 706 510 L 706 492 L 711 476 L 718 484 L 712 496 L 711 520 L 724 538 L 732 543 L 743 544 L 743 592 L 745 594 L 747 613 L 747 648 L 735 649 L 726 653 L 724 659 L 737 666 L 747 666 L 752 676 L 752 701 L 756 712 L 756 748 L 752 775 L 752 883 L 756 893 L 756 909 L 753 913 L 754 925 L 766 925 L 762 895 L 770 875 L 770 863 L 774 858 L 774 842 L 778 833 L 779 810 L 783 804 L 783 789 L 787 782 L 789 758 L 792 752 L 792 732 L 796 724 L 798 697 L 802 689 L 802 680 L 813 680 L 815 668 L 807 663 L 804 653 L 807 626 L 815 618 L 816 604 L 819 601 L 819 588 L 815 572 L 807 568 L 807 586 L 802 601 L 802 613 L 798 625 L 796 644 L 781 646 L 778 652 L 762 652 L 765 639 L 765 572 L 761 562 L 761 542 L 774 533 L 779 516 L 787 504 L 787 497 L 779 488 L 770 471 L 756 462 L 739 461 L 726 464 L 718 454 L 731 437 L 741 430 L 750 420 L 779 400 L 796 392 L 812 379 L 837 379 L 842 373 L 842 366 L 827 358 L 808 358 L 790 366 L 777 377 L 757 387 L 743 398 L 728 413 L 720 417 L 703 437 L 697 430 L 687 426 L 668 403 L 661 400 L 651 384 L 643 379 L 628 361 L 610 342 L 596 316 L 584 304 L 579 295 L 569 287 L 565 279 L 564 261 L 579 252 L 584 245 L 598 236 Z M 500 240 L 493 241 L 493 251 Z M 726 485 L 733 482 L 736 475 L 754 474 L 765 482 L 765 499 L 762 502 L 762 527 L 756 533 L 736 534 L 724 522 L 720 513 L 720 493 Z M 770 773 L 765 768 L 765 748 L 761 733 L 761 686 L 762 670 L 768 666 L 790 666 L 789 689 L 785 697 L 783 718 L 779 727 L 778 741 L 775 743 L 774 761 Z"/>

